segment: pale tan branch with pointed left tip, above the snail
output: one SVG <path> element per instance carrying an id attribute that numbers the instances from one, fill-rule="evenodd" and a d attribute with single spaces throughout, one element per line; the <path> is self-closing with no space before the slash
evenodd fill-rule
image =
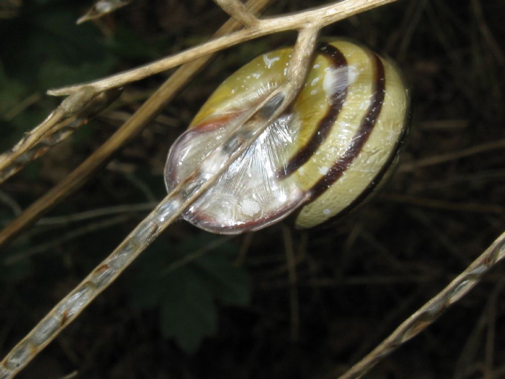
<path id="1" fill-rule="evenodd" d="M 213 39 L 207 43 L 185 50 L 176 55 L 149 63 L 145 66 L 124 71 L 120 74 L 112 75 L 89 83 L 52 89 L 47 91 L 47 93 L 54 96 L 62 96 L 74 93 L 75 91 L 79 91 L 86 87 L 92 88 L 93 91 L 103 91 L 107 88 L 121 87 L 127 83 L 131 83 L 132 81 L 140 80 L 160 73 L 193 59 L 216 53 L 240 42 L 281 31 L 299 30 L 307 27 L 308 25 L 315 25 L 318 29 L 321 29 L 349 16 L 393 3 L 395 1 L 397 0 L 344 0 L 328 6 L 296 14 L 261 19 L 256 26 Z"/>

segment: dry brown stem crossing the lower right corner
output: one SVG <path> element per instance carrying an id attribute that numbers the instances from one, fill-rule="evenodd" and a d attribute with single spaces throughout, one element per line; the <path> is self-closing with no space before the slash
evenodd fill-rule
<path id="1" fill-rule="evenodd" d="M 379 346 L 338 379 L 357 379 L 365 375 L 382 358 L 415 337 L 432 324 L 450 305 L 465 296 L 503 257 L 505 257 L 505 232 L 447 287 L 403 321 Z"/>

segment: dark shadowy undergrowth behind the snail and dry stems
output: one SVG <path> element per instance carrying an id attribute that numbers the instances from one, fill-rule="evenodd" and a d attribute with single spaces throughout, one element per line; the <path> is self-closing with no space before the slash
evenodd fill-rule
<path id="1" fill-rule="evenodd" d="M 0 13 L 2 150 L 57 106 L 47 88 L 176 53 L 226 20 L 210 0 L 136 0 L 80 26 L 75 20 L 88 1 L 16 3 L 0 1 L 2 10 L 10 7 Z M 268 14 L 323 4 L 274 3 Z M 403 0 L 325 28 L 324 35 L 390 56 L 412 89 L 410 136 L 383 191 L 329 229 L 275 225 L 223 238 L 177 222 L 19 377 L 306 379 L 344 372 L 505 229 L 503 15 L 501 0 Z M 272 35 L 223 52 L 45 225 L 0 253 L 0 355 L 142 219 L 145 212 L 129 205 L 148 209 L 164 197 L 168 149 L 213 89 L 294 38 Z M 0 222 L 72 171 L 167 75 L 129 85 L 108 111 L 6 181 Z M 432 157 L 439 162 L 413 166 Z M 71 217 L 125 205 L 120 213 Z M 294 285 L 286 238 L 294 246 Z M 505 377 L 503 273 L 498 264 L 366 377 Z"/>

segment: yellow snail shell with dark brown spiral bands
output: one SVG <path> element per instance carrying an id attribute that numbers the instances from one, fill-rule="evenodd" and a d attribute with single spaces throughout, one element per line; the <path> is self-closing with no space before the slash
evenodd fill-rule
<path id="1" fill-rule="evenodd" d="M 257 57 L 216 89 L 170 149 L 169 191 L 228 138 L 231 121 L 285 81 L 291 51 Z M 312 227 L 354 207 L 384 176 L 406 129 L 409 97 L 400 75 L 344 39 L 321 42 L 314 55 L 296 100 L 185 211 L 186 220 L 237 233 L 296 211 L 295 226 Z M 225 146 L 233 149 L 236 138 Z M 212 172 L 213 160 L 204 166 Z"/>

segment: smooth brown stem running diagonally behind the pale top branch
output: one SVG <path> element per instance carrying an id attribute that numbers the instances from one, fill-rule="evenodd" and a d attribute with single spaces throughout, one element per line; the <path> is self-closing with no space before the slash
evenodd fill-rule
<path id="1" fill-rule="evenodd" d="M 270 0 L 250 0 L 247 6 L 251 12 L 259 12 Z M 227 34 L 240 25 L 230 20 L 216 35 Z M 148 122 L 178 93 L 193 75 L 203 67 L 211 57 L 204 57 L 186 63 L 126 121 L 102 146 L 91 154 L 83 163 L 58 183 L 51 191 L 31 204 L 21 215 L 0 231 L 0 249 L 12 241 L 24 228 L 31 225 L 49 209 L 77 191 L 87 180 L 124 145 L 133 139 Z"/>

